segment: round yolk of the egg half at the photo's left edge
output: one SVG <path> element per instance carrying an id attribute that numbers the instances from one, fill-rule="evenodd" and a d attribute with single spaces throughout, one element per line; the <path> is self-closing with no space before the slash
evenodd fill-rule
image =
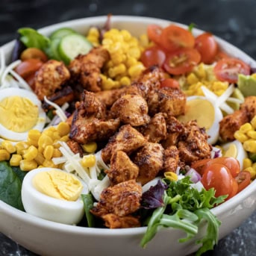
<path id="1" fill-rule="evenodd" d="M 25 132 L 37 124 L 38 107 L 30 99 L 10 96 L 0 102 L 0 123 L 10 131 Z"/>

